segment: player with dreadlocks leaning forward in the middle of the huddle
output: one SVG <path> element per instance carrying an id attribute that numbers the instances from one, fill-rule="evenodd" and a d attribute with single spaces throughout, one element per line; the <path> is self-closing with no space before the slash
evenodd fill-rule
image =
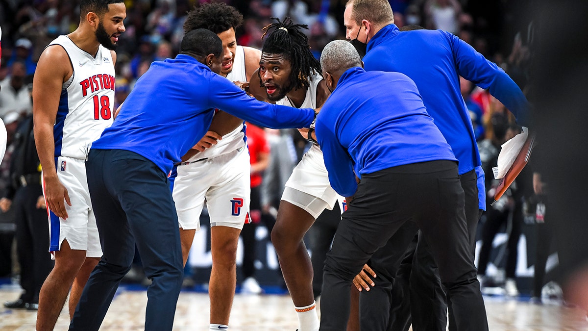
<path id="1" fill-rule="evenodd" d="M 320 62 L 313 57 L 308 38 L 302 32 L 306 25 L 294 24 L 289 18 L 276 21 L 264 28 L 266 39 L 259 73 L 253 75 L 250 91 L 257 96 L 259 89 L 266 100 L 276 104 L 320 107 L 329 90 L 320 75 Z M 312 133 L 313 129 L 303 129 L 301 133 L 309 137 L 308 131 Z M 319 329 L 312 264 L 302 238 L 316 217 L 325 208 L 332 209 L 338 200 L 343 202 L 330 187 L 323 154 L 315 144 L 292 171 L 272 230 L 272 243 L 298 313 L 300 331 Z"/>

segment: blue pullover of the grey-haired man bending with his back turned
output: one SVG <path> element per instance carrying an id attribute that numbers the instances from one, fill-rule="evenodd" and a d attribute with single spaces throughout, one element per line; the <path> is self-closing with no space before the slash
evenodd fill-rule
<path id="1" fill-rule="evenodd" d="M 403 164 L 456 161 L 415 83 L 397 72 L 345 71 L 315 128 L 330 184 L 345 197 L 355 194 L 355 174 L 361 178 Z"/>

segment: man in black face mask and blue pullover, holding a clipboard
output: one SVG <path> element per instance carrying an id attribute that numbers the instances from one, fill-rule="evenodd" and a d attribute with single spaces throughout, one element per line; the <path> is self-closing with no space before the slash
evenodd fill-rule
<path id="1" fill-rule="evenodd" d="M 352 44 L 360 54 L 366 54 L 363 57 L 366 70 L 401 72 L 415 81 L 427 112 L 451 145 L 459 160 L 460 180 L 466 194 L 466 220 L 473 260 L 477 222 L 486 208 L 484 174 L 469 112 L 460 94 L 459 76 L 489 88 L 522 125 L 526 125 L 529 118 L 526 98 L 502 69 L 455 35 L 439 30 L 400 32 L 393 24 L 392 9 L 385 0 L 349 1 L 344 21 L 347 38 L 355 37 Z M 416 296 L 411 296 L 411 305 L 419 307 L 412 312 L 422 314 L 413 316 L 413 328 L 418 330 L 445 330 L 443 310 L 446 308 L 441 312 L 435 310 L 438 297 L 435 299 L 431 294 L 442 293 L 435 268 L 426 241 L 420 238 L 411 275 L 411 282 L 417 280 L 412 289 L 418 289 Z M 375 272 L 377 274 L 377 270 Z M 450 310 L 450 327 L 455 324 L 452 318 Z"/>

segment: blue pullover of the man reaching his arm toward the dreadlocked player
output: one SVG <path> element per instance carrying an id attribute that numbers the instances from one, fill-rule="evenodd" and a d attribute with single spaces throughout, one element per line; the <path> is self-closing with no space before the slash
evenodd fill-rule
<path id="1" fill-rule="evenodd" d="M 215 109 L 270 128 L 308 127 L 315 116 L 311 108 L 257 101 L 195 58 L 180 54 L 151 64 L 92 148 L 133 151 L 169 173 L 204 136 Z"/>

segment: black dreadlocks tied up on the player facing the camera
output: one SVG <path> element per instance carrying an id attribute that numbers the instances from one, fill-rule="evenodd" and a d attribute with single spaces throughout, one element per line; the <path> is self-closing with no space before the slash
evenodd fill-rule
<path id="1" fill-rule="evenodd" d="M 290 61 L 292 72 L 290 72 L 290 81 L 293 82 L 293 88 L 308 88 L 310 86 L 309 77 L 312 72 L 322 72 L 320 62 L 310 52 L 308 37 L 301 29 L 308 29 L 308 25 L 294 24 L 292 19 L 286 17 L 283 21 L 272 17 L 278 22 L 263 27 L 263 37 L 267 35 L 263 42 L 262 53 L 280 54 Z"/>

